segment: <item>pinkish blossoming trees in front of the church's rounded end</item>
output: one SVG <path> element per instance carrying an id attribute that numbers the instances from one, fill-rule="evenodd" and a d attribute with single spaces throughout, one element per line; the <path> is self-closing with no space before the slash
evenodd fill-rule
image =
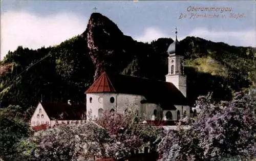
<path id="1" fill-rule="evenodd" d="M 140 120 L 132 117 L 135 115 L 131 113 L 103 112 L 95 122 L 89 119 L 81 125 L 37 131 L 26 144 L 37 145 L 38 148 L 19 149 L 26 149 L 36 160 L 120 158 L 148 144 L 155 150 L 161 131 L 150 125 L 139 124 Z"/>

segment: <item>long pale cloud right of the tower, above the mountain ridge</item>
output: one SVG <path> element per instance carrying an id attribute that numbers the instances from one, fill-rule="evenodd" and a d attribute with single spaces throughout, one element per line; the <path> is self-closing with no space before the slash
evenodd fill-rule
<path id="1" fill-rule="evenodd" d="M 256 31 L 210 31 L 208 29 L 195 29 L 189 36 L 201 37 L 215 42 L 225 42 L 229 45 L 256 47 Z"/>

